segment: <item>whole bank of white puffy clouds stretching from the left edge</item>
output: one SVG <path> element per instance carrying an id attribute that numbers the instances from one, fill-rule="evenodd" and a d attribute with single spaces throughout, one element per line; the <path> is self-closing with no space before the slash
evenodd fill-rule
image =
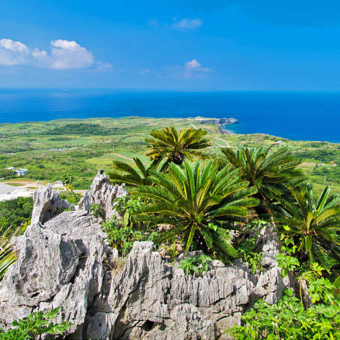
<path id="1" fill-rule="evenodd" d="M 51 52 L 34 48 L 11 39 L 0 40 L 0 65 L 32 64 L 54 69 L 109 69 L 112 65 L 96 61 L 91 51 L 75 41 L 51 40 Z"/>

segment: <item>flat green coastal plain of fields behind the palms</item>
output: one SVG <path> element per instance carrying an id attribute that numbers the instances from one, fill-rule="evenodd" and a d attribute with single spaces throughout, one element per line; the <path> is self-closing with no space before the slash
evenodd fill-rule
<path id="1" fill-rule="evenodd" d="M 112 160 L 133 164 L 132 158 L 138 156 L 148 164 L 149 160 L 144 156 L 147 145 L 144 139 L 152 129 L 170 125 L 182 129 L 192 127 L 191 124 L 208 131 L 213 147 L 206 153 L 221 155 L 221 146 L 275 144 L 274 149 L 289 147 L 303 158 L 301 167 L 317 191 L 326 183 L 340 192 L 340 144 L 291 141 L 263 134 L 227 135 L 218 125 L 200 125 L 192 119 L 127 117 L 0 124 L 0 169 L 15 167 L 29 170 L 24 178 L 4 180 L 9 184 L 12 181 L 14 185 L 27 185 L 30 178 L 31 183 L 39 180 L 39 185 L 44 185 L 72 174 L 75 187 L 86 189 L 98 169 L 112 170 Z M 278 140 L 284 141 L 284 144 L 277 144 Z"/>

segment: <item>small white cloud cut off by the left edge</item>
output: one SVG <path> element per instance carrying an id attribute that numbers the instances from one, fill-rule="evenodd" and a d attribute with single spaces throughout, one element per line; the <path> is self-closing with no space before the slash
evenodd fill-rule
<path id="1" fill-rule="evenodd" d="M 0 65 L 28 64 L 29 48 L 20 41 L 0 40 Z"/>

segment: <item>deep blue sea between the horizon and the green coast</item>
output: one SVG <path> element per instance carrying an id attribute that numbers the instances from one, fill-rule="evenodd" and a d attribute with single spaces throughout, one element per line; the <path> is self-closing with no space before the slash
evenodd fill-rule
<path id="1" fill-rule="evenodd" d="M 234 117 L 236 133 L 340 142 L 340 92 L 0 89 L 0 123 L 126 116 Z"/>

